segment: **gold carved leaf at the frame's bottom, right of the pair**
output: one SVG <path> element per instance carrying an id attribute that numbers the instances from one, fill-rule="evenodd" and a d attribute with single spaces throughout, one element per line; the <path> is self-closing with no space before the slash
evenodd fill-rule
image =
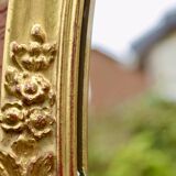
<path id="1" fill-rule="evenodd" d="M 26 176 L 53 176 L 54 155 L 48 153 L 31 163 Z"/>

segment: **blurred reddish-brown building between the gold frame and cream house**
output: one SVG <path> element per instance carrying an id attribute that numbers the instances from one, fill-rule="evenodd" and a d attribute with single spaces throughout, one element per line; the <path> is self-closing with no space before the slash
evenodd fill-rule
<path id="1" fill-rule="evenodd" d="M 90 110 L 94 113 L 103 113 L 145 92 L 150 86 L 146 79 L 142 69 L 129 68 L 98 51 L 92 51 Z"/>

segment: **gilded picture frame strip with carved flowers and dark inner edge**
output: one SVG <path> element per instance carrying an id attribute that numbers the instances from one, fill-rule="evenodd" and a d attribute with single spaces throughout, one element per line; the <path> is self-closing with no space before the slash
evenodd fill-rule
<path id="1" fill-rule="evenodd" d="M 91 0 L 10 0 L 0 176 L 85 176 Z"/>

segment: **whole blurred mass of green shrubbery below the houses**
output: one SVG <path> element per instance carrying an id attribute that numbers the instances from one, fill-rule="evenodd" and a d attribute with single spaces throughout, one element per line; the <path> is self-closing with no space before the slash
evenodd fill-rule
<path id="1" fill-rule="evenodd" d="M 90 176 L 176 176 L 176 105 L 146 95 L 94 118 Z"/>

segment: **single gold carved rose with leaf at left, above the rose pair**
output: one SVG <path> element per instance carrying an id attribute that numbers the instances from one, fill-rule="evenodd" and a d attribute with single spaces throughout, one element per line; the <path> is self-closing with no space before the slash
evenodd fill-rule
<path id="1" fill-rule="evenodd" d="M 44 102 L 52 91 L 48 80 L 42 75 L 19 73 L 10 67 L 6 73 L 6 88 L 14 96 L 20 97 L 25 105 Z"/>

